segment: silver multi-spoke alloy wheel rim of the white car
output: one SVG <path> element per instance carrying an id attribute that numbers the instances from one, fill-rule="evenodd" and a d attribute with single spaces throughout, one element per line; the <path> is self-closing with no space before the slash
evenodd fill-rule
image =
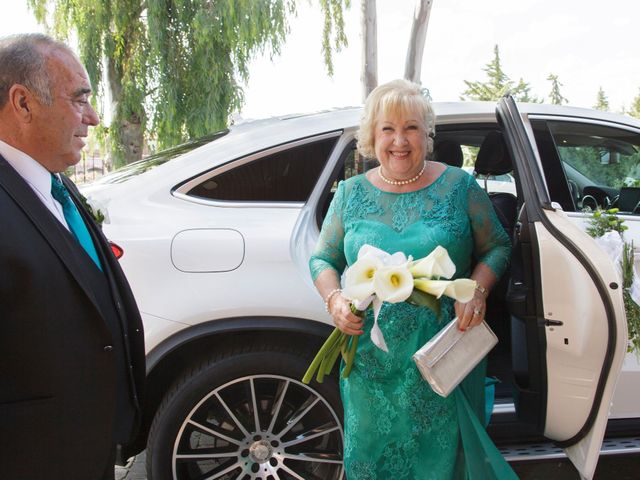
<path id="1" fill-rule="evenodd" d="M 330 480 L 343 477 L 342 426 L 308 385 L 251 375 L 202 398 L 172 454 L 175 480 Z"/>

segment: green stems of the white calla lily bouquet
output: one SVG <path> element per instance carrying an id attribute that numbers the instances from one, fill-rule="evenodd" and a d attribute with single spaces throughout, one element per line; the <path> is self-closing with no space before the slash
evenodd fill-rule
<path id="1" fill-rule="evenodd" d="M 351 306 L 351 310 L 358 316 L 364 315 L 364 312 L 355 310 L 353 305 Z M 304 377 L 302 377 L 302 383 L 308 385 L 314 375 L 316 376 L 316 381 L 322 383 L 324 376 L 331 373 L 340 355 L 342 355 L 345 362 L 344 369 L 342 370 L 342 378 L 347 378 L 351 373 L 353 360 L 356 358 L 358 340 L 358 335 L 347 335 L 341 332 L 338 327 L 334 328 L 329 338 L 325 340 L 320 350 L 318 350 L 318 353 L 316 353 Z"/>

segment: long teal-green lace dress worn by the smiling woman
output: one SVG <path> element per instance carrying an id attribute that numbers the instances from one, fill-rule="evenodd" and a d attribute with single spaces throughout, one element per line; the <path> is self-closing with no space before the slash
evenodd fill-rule
<path id="1" fill-rule="evenodd" d="M 410 193 L 382 191 L 364 175 L 340 182 L 309 263 L 313 279 L 326 268 L 342 273 L 364 244 L 415 259 L 442 245 L 456 277 L 471 274 L 473 258 L 500 276 L 510 253 L 486 193 L 455 167 Z M 348 480 L 517 478 L 483 427 L 486 363 L 442 398 L 411 359 L 453 316 L 445 297 L 440 318 L 408 303 L 383 304 L 385 353 L 370 339 L 368 310 L 353 370 L 340 381 Z"/>

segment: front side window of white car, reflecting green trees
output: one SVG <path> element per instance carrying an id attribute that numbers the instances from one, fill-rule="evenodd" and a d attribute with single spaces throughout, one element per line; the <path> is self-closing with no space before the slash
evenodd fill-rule
<path id="1" fill-rule="evenodd" d="M 639 213 L 640 135 L 578 122 L 547 122 L 575 210 Z M 553 189 L 550 188 L 553 198 Z M 555 199 L 554 199 L 555 200 Z"/>

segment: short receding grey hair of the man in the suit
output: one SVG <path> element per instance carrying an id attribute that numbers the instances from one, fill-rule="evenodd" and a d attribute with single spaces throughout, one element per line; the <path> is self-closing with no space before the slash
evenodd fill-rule
<path id="1" fill-rule="evenodd" d="M 38 99 L 51 105 L 51 79 L 47 68 L 48 54 L 53 50 L 75 54 L 64 43 L 41 33 L 21 33 L 0 38 L 0 109 L 9 100 L 15 84 L 24 85 Z"/>

